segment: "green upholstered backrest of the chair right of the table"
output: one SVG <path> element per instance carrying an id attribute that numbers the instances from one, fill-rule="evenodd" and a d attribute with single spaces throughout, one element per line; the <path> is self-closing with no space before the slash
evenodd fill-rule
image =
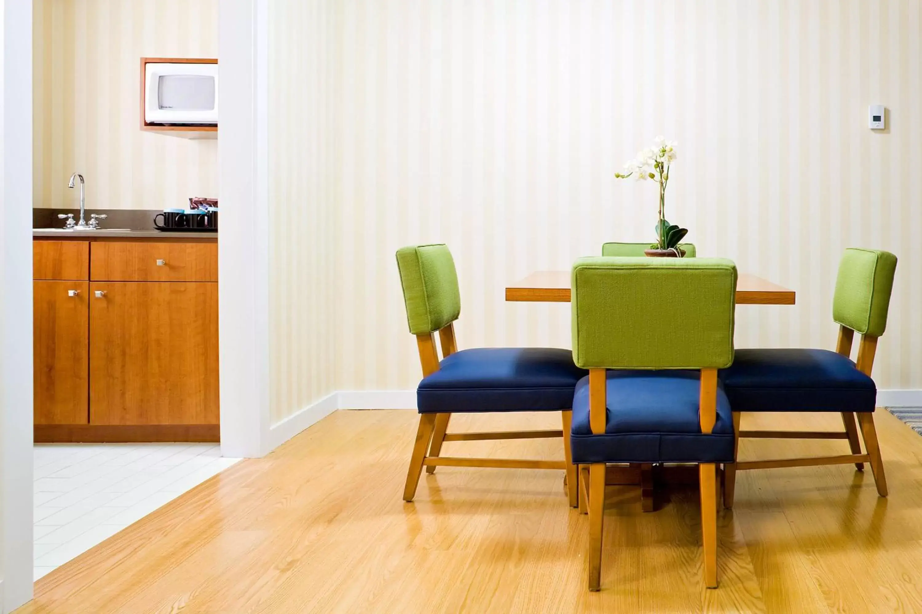
<path id="1" fill-rule="evenodd" d="M 896 256 L 875 249 L 845 249 L 833 295 L 833 319 L 863 335 L 880 337 L 887 328 Z"/>

